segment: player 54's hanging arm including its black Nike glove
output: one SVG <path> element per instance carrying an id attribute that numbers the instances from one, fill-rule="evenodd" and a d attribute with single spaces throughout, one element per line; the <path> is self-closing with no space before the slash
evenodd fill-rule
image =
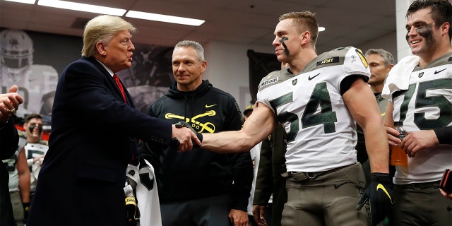
<path id="1" fill-rule="evenodd" d="M 364 131 L 371 165 L 371 181 L 357 203 L 357 210 L 369 203 L 371 223 L 377 225 L 391 215 L 393 205 L 386 131 L 375 96 L 367 83 L 357 79 L 344 93 L 343 98 L 350 113 Z"/>

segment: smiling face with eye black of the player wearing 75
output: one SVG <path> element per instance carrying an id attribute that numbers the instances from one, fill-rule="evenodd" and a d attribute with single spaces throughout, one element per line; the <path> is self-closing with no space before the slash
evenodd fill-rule
<path id="1" fill-rule="evenodd" d="M 410 45 L 412 54 L 426 57 L 434 54 L 437 43 L 441 40 L 441 30 L 430 14 L 431 8 L 422 8 L 408 17 L 405 28 L 406 40 Z"/>

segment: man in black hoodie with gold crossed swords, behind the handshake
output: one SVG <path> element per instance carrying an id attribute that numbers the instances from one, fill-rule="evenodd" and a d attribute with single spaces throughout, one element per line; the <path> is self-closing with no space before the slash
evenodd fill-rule
<path id="1" fill-rule="evenodd" d="M 234 97 L 203 81 L 206 66 L 201 44 L 179 42 L 172 54 L 176 82 L 150 105 L 148 114 L 171 123 L 186 121 L 200 133 L 241 129 L 242 112 Z M 143 156 L 157 174 L 163 225 L 248 225 L 253 179 L 249 153 L 219 154 L 201 148 L 179 153 L 145 146 Z"/>

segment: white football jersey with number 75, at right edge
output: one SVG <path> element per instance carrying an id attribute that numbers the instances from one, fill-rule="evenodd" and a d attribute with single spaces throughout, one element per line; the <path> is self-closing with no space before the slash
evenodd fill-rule
<path id="1" fill-rule="evenodd" d="M 403 121 L 408 132 L 452 126 L 452 53 L 424 69 L 416 67 L 408 90 L 393 93 L 389 101 L 393 103 L 394 121 Z M 396 169 L 395 184 L 437 181 L 444 169 L 452 169 L 452 145 L 421 150 L 415 157 L 408 157 L 408 167 Z"/>

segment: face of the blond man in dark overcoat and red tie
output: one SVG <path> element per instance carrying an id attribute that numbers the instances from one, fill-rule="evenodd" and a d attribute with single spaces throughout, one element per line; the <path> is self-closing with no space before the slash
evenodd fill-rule
<path id="1" fill-rule="evenodd" d="M 107 43 L 97 43 L 97 49 L 105 57 L 102 61 L 113 72 L 132 66 L 132 51 L 135 50 L 129 30 L 121 30 Z"/>

